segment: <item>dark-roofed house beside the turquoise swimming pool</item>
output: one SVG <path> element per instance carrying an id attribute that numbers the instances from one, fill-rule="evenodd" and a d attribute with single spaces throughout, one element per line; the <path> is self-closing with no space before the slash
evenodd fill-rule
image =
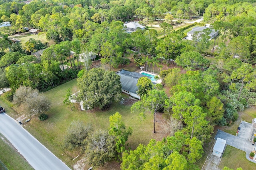
<path id="1" fill-rule="evenodd" d="M 118 74 L 121 77 L 120 81 L 122 84 L 122 92 L 129 94 L 130 96 L 138 99 L 140 99 L 140 96 L 137 94 L 137 91 L 138 91 L 137 83 L 139 78 L 141 77 L 148 77 L 149 79 L 151 78 L 150 76 L 146 76 L 138 72 L 130 72 L 124 69 L 116 72 L 116 74 Z"/>

